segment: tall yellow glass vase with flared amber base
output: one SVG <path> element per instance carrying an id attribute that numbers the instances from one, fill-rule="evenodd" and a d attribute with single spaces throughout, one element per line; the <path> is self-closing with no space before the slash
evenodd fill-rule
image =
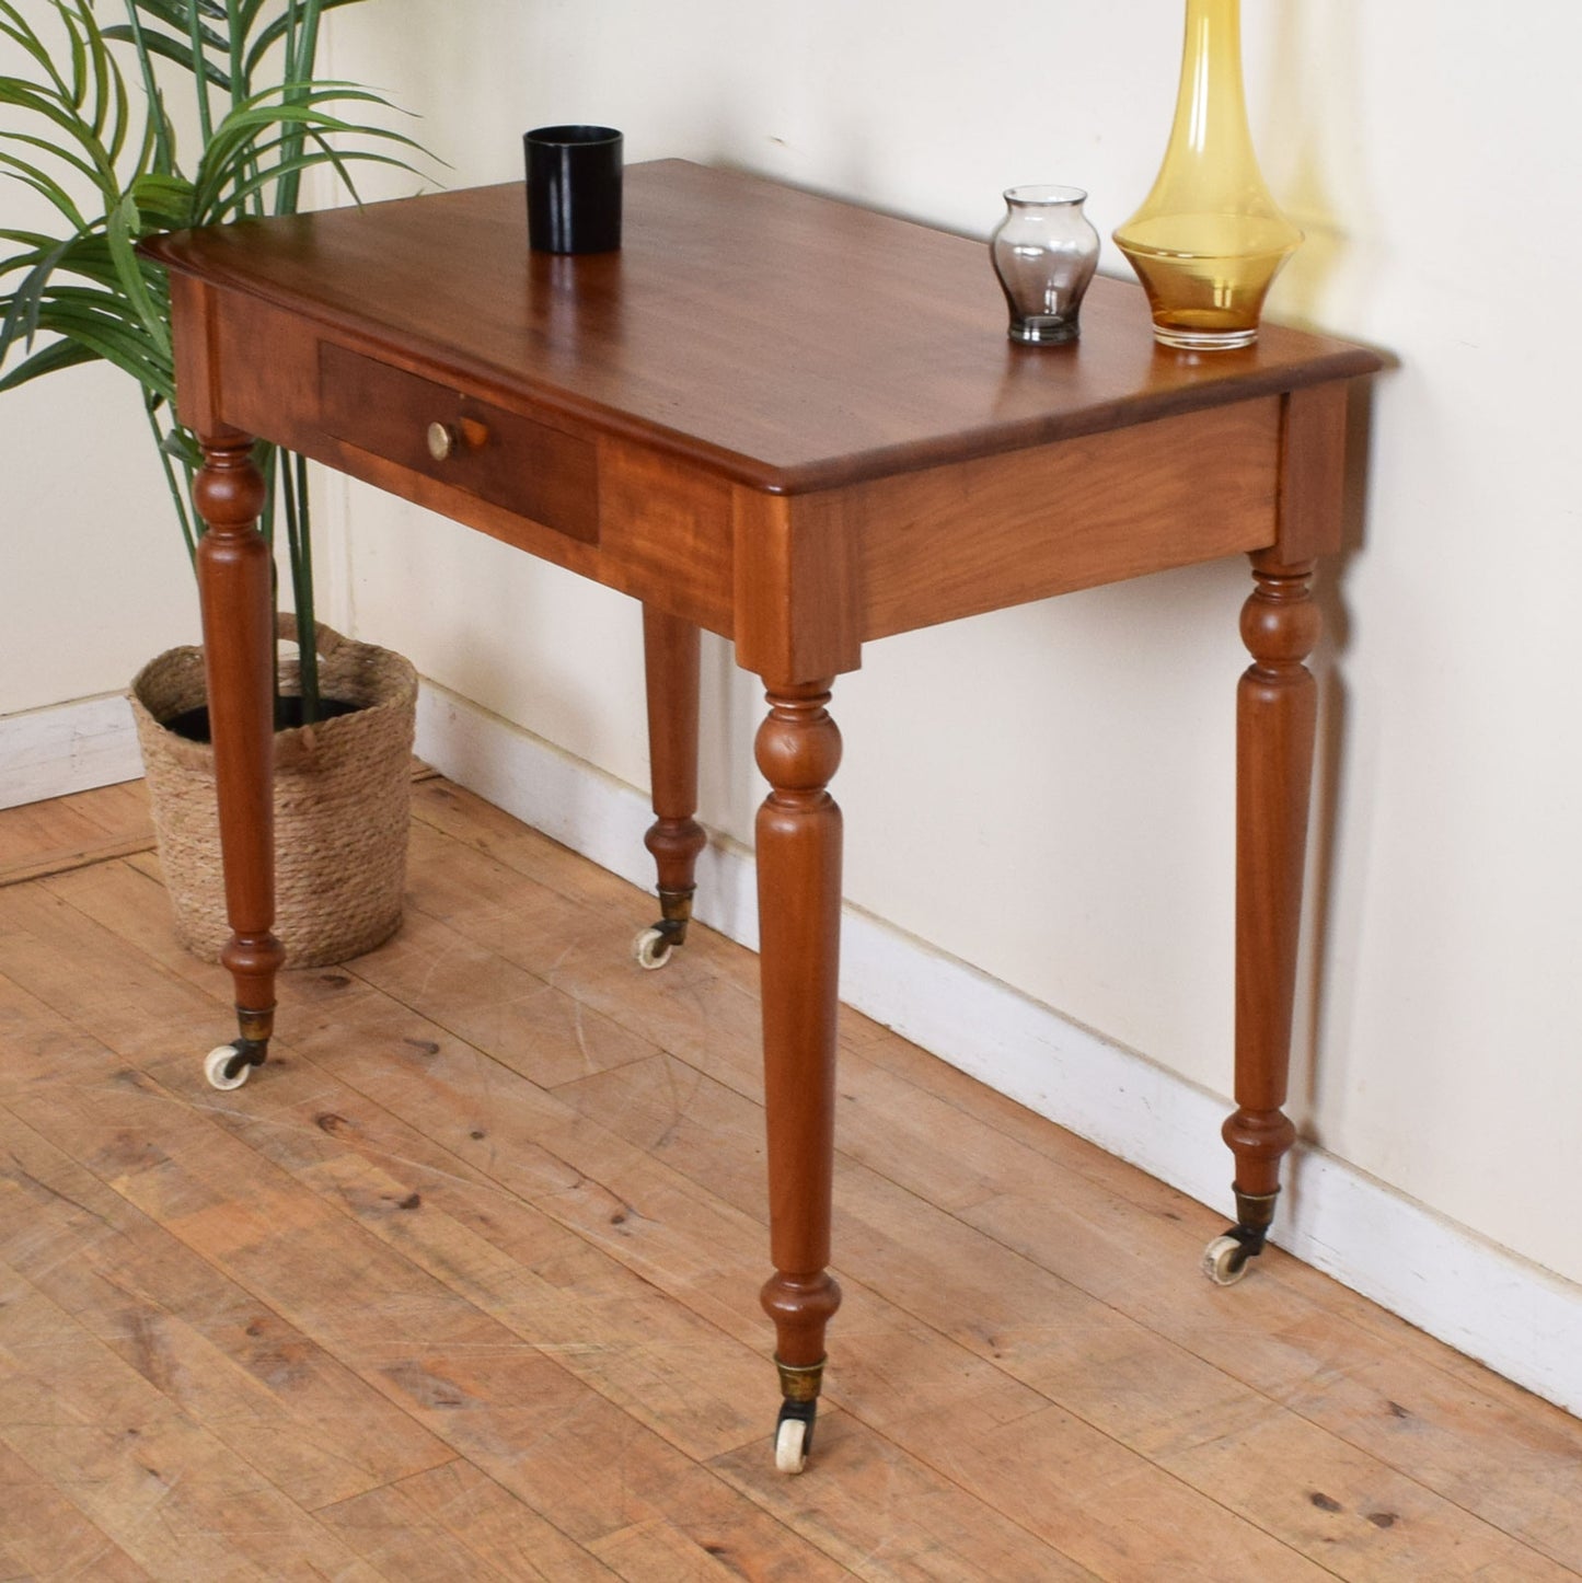
<path id="1" fill-rule="evenodd" d="M 1302 233 L 1264 185 L 1242 89 L 1242 0 L 1186 0 L 1175 127 L 1147 203 L 1116 233 L 1167 347 L 1257 339 L 1264 296 Z"/>

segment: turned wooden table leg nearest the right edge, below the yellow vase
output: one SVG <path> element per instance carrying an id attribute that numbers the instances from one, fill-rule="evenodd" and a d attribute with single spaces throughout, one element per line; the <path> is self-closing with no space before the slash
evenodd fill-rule
<path id="1" fill-rule="evenodd" d="M 1297 1137 L 1281 1107 L 1318 723 L 1318 689 L 1303 660 L 1318 643 L 1319 611 L 1311 560 L 1286 565 L 1272 549 L 1251 559 L 1256 587 L 1242 609 L 1242 638 L 1253 663 L 1237 693 L 1237 1110 L 1224 1124 L 1237 1225 L 1205 1255 L 1215 1279 L 1235 1279 L 1262 1252 L 1280 1162 Z"/>

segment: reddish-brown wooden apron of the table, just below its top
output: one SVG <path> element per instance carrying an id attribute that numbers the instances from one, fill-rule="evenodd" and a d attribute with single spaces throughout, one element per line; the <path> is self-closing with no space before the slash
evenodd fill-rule
<path id="1" fill-rule="evenodd" d="M 204 296 L 198 405 L 225 424 L 735 638 L 782 679 L 852 670 L 874 638 L 1276 540 L 1287 396 L 770 495 L 410 350 Z M 429 393 L 434 419 L 497 431 L 470 488 L 467 459 L 447 473 L 423 454 Z"/>

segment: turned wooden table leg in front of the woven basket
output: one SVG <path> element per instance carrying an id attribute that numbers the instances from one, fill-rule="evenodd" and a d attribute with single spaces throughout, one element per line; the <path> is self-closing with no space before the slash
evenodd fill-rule
<path id="1" fill-rule="evenodd" d="M 274 977 L 285 951 L 274 923 L 274 600 L 269 548 L 258 532 L 264 484 L 252 440 L 203 437 L 193 500 L 198 598 L 209 684 L 209 730 L 220 803 L 220 855 L 231 939 L 220 961 L 236 986 L 241 1034 L 211 1051 L 209 1081 L 234 1088 L 261 1065 L 274 1032 Z"/>

